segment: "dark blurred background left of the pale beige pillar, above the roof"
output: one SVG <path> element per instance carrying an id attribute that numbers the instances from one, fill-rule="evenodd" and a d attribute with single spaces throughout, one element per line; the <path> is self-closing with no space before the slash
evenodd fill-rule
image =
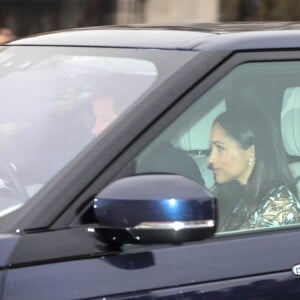
<path id="1" fill-rule="evenodd" d="M 114 24 L 117 0 L 0 0 L 0 27 L 17 36 Z"/>

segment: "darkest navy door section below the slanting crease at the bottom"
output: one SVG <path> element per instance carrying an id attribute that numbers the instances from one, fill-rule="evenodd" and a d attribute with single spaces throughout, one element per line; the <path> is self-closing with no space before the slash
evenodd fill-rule
<path id="1" fill-rule="evenodd" d="M 190 286 L 160 289 L 152 292 L 130 293 L 112 296 L 111 300 L 129 299 L 190 299 L 190 300 L 226 300 L 226 299 L 259 299 L 270 297 L 280 300 L 284 297 L 297 299 L 299 294 L 298 279 L 291 278 L 289 272 L 276 275 L 262 275 L 242 279 L 219 281 L 217 283 L 195 284 Z M 278 285 L 278 282 L 281 285 Z"/>

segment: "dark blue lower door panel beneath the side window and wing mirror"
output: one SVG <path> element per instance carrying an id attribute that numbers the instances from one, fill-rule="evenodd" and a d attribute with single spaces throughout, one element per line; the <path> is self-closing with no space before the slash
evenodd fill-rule
<path id="1" fill-rule="evenodd" d="M 72 244 L 74 257 L 62 262 L 53 259 L 30 266 L 28 261 L 26 267 L 15 264 L 16 268 L 7 272 L 5 299 L 18 299 L 24 291 L 28 299 L 82 299 L 123 293 L 141 295 L 144 292 L 138 291 L 150 293 L 167 288 L 173 289 L 174 295 L 180 294 L 181 289 L 188 290 L 186 295 L 209 295 L 225 289 L 224 294 L 228 295 L 235 293 L 235 288 L 253 294 L 258 292 L 256 287 L 264 286 L 265 280 L 271 285 L 282 281 L 276 290 L 290 286 L 291 296 L 295 296 L 292 291 L 298 291 L 299 279 L 292 275 L 291 269 L 299 262 L 299 255 L 297 248 L 291 249 L 290 245 L 296 240 L 299 240 L 297 230 L 278 230 L 177 246 L 125 246 L 119 253 L 90 253 L 90 257 L 81 259 L 76 258 L 77 246 Z M 63 242 L 60 237 L 52 245 L 44 244 L 39 249 L 46 254 Z M 36 244 L 40 244 L 38 240 Z M 31 245 L 35 247 L 34 243 Z M 34 255 L 33 252 L 33 260 Z M 47 290 L 51 293 L 45 293 Z M 274 296 L 273 289 L 262 290 L 262 295 Z"/>

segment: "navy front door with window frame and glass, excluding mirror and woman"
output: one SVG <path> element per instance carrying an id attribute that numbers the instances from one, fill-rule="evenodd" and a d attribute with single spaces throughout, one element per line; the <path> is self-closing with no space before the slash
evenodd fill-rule
<path id="1" fill-rule="evenodd" d="M 105 177 L 111 181 L 163 172 L 147 162 L 153 149 L 165 142 L 181 147 L 186 134 L 194 146 L 185 144 L 180 150 L 192 157 L 204 183 L 212 187 L 206 157 L 214 117 L 224 108 L 253 101 L 281 126 L 281 102 L 286 89 L 297 86 L 299 58 L 294 51 L 269 51 L 238 53 L 224 62 L 127 145 L 51 228 L 24 232 L 10 259 L 3 298 L 297 299 L 299 279 L 292 267 L 299 263 L 298 224 L 220 232 L 179 245 L 114 248 L 97 238 L 86 195 L 97 191 Z M 189 176 L 185 171 L 177 172 Z"/>

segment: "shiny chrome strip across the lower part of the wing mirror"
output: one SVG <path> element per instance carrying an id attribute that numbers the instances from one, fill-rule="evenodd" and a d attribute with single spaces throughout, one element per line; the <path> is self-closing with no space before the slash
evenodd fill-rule
<path id="1" fill-rule="evenodd" d="M 143 222 L 136 226 L 134 229 L 173 229 L 175 231 L 181 229 L 197 229 L 197 228 L 212 228 L 215 226 L 214 220 L 201 220 L 201 221 L 174 221 L 174 222 Z"/>

